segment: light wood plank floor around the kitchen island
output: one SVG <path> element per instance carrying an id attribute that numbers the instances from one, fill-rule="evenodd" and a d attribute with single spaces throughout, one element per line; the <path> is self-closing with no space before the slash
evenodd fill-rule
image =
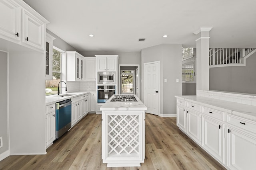
<path id="1" fill-rule="evenodd" d="M 221 170 L 225 169 L 176 126 L 176 117 L 146 114 L 146 159 L 140 167 L 107 168 L 101 159 L 101 115 L 88 114 L 46 155 L 8 156 L 1 170 Z"/>

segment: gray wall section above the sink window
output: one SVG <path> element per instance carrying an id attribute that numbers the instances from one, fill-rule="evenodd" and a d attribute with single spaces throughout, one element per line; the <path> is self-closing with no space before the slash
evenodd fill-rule
<path id="1" fill-rule="evenodd" d="M 69 45 L 68 43 L 66 43 L 63 39 L 61 39 L 60 37 L 58 37 L 58 35 L 52 33 L 51 31 L 49 31 L 48 29 L 46 29 L 46 32 L 49 33 L 50 35 L 52 35 L 54 38 L 53 40 L 53 45 L 63 51 L 76 51 L 79 53 L 79 51 L 77 51 L 74 47 L 72 47 L 71 45 Z"/>

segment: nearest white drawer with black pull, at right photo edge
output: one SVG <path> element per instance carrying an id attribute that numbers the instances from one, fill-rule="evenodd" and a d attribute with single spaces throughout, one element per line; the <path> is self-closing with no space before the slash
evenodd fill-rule
<path id="1" fill-rule="evenodd" d="M 227 123 L 256 133 L 256 122 L 235 115 L 227 114 Z"/>

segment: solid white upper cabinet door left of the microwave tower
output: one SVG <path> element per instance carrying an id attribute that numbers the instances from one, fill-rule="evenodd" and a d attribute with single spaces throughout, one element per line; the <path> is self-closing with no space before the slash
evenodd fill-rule
<path id="1" fill-rule="evenodd" d="M 96 59 L 85 59 L 85 80 L 96 81 Z"/>

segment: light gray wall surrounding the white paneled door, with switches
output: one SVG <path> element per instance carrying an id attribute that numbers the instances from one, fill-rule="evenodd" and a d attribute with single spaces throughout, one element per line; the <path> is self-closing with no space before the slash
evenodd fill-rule
<path id="1" fill-rule="evenodd" d="M 141 65 L 143 80 L 143 64 L 160 61 L 160 114 L 176 114 L 175 95 L 182 95 L 182 45 L 161 44 L 142 49 Z M 164 83 L 164 79 L 167 82 Z M 176 78 L 179 82 L 176 82 Z M 143 81 L 142 81 L 143 87 Z M 142 98 L 143 91 L 142 89 Z M 143 101 L 143 100 L 142 100 Z"/>

